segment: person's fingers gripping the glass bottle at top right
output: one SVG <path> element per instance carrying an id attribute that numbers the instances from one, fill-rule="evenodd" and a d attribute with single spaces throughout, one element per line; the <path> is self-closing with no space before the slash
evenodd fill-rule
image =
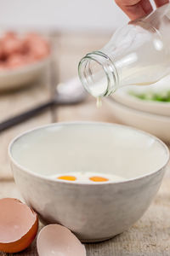
<path id="1" fill-rule="evenodd" d="M 149 0 L 115 0 L 115 2 L 131 20 L 149 15 L 152 11 Z M 168 0 L 155 0 L 156 7 L 168 2 Z"/>

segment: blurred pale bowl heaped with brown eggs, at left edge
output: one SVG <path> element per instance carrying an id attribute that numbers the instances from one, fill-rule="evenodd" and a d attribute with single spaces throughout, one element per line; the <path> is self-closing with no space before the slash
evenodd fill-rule
<path id="1" fill-rule="evenodd" d="M 50 61 L 50 44 L 37 33 L 0 34 L 0 91 L 15 90 L 39 79 Z"/>

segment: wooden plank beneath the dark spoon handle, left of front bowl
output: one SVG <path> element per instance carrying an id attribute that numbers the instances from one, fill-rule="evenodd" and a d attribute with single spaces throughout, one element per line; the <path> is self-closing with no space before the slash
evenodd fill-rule
<path id="1" fill-rule="evenodd" d="M 13 94 L 0 96 L 0 112 L 3 113 L 1 121 L 8 117 L 25 111 L 26 109 L 33 108 L 38 103 L 47 100 L 49 97 L 47 84 L 41 84 L 39 86 L 32 86 L 26 90 L 20 90 Z M 11 177 L 11 172 L 8 167 L 8 155 L 7 148 L 8 143 L 16 135 L 22 131 L 29 130 L 37 125 L 43 125 L 51 122 L 51 115 L 42 113 L 36 118 L 30 119 L 23 124 L 14 126 L 14 128 L 7 131 L 3 131 L 0 134 L 0 177 Z"/>

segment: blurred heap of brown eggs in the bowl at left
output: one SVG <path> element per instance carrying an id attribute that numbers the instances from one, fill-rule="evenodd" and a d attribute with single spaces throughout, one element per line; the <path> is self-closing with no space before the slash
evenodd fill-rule
<path id="1" fill-rule="evenodd" d="M 6 32 L 0 38 L 0 71 L 34 64 L 49 55 L 48 41 L 37 33 L 24 37 L 14 32 Z"/>

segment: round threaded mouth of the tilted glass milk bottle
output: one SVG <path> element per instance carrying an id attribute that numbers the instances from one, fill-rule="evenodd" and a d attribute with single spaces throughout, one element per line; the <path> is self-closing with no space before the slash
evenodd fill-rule
<path id="1" fill-rule="evenodd" d="M 84 88 L 92 96 L 109 96 L 118 87 L 116 67 L 102 51 L 94 51 L 83 57 L 78 73 Z"/>

